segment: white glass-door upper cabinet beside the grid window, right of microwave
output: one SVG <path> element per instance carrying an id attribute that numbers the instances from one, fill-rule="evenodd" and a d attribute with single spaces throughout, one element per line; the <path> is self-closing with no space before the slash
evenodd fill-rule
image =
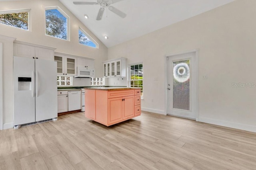
<path id="1" fill-rule="evenodd" d="M 103 62 L 104 77 L 126 77 L 126 58 Z"/>

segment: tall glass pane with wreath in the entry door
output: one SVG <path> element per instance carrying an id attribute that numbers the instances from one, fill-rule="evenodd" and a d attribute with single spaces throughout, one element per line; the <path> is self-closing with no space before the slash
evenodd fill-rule
<path id="1" fill-rule="evenodd" d="M 173 108 L 190 110 L 190 60 L 173 61 Z"/>

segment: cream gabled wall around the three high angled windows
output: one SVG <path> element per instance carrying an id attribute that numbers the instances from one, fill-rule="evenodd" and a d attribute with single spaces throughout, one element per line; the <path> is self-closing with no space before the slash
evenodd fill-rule
<path id="1" fill-rule="evenodd" d="M 58 6 L 70 17 L 70 41 L 45 35 L 45 7 Z M 95 37 L 67 8 L 58 0 L 0 1 L 0 11 L 31 9 L 32 30 L 25 31 L 0 24 L 0 34 L 15 37 L 19 41 L 46 45 L 57 48 L 57 52 L 94 58 L 96 76 L 103 76 L 102 61 L 107 60 L 107 47 Z M 99 48 L 87 47 L 78 43 L 78 27 L 81 27 L 98 44 Z M 0 41 L 2 42 L 2 41 Z M 3 123 L 4 129 L 13 126 L 13 45 L 4 43 L 3 55 Z M 89 79 L 88 79 L 89 80 Z M 88 80 L 74 81 L 76 86 L 87 86 Z"/>

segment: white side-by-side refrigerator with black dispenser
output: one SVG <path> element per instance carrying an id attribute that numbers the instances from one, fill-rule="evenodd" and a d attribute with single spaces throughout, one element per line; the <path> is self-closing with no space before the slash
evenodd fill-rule
<path id="1" fill-rule="evenodd" d="M 56 61 L 14 56 L 13 66 L 14 128 L 50 119 L 56 120 Z"/>

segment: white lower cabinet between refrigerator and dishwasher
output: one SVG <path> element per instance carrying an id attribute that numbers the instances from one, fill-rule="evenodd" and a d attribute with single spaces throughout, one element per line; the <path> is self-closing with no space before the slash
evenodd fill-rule
<path id="1" fill-rule="evenodd" d="M 58 113 L 68 111 L 68 91 L 58 91 Z"/>

